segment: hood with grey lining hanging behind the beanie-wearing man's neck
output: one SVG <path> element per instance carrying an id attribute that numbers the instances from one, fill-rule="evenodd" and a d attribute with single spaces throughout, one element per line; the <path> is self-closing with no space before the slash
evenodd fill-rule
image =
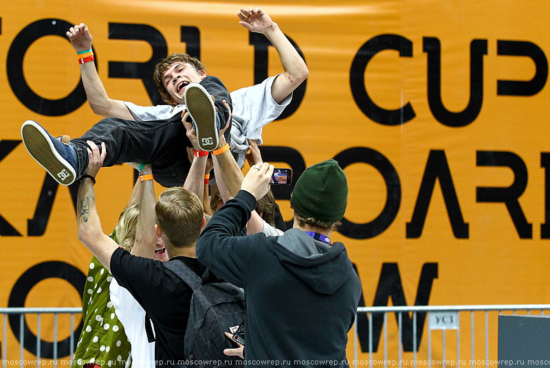
<path id="1" fill-rule="evenodd" d="M 315 292 L 331 295 L 355 272 L 341 242 L 329 245 L 300 229 L 290 229 L 277 243 L 281 246 L 272 250 L 283 267 Z"/>

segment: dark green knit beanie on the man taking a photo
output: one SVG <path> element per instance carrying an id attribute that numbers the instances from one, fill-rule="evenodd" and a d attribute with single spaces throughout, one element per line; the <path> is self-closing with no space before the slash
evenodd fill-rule
<path id="1" fill-rule="evenodd" d="M 296 181 L 290 199 L 302 217 L 329 223 L 342 220 L 347 202 L 346 174 L 332 159 L 307 168 Z"/>

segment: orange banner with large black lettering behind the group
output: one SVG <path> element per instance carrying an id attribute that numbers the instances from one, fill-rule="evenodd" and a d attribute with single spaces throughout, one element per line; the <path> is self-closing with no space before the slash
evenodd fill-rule
<path id="1" fill-rule="evenodd" d="M 0 306 L 81 303 L 91 254 L 76 234 L 76 193 L 45 179 L 20 135 L 27 119 L 72 137 L 99 119 L 79 84 L 68 27 L 89 26 L 109 97 L 149 105 L 158 97 L 146 68 L 159 54 L 188 51 L 188 37 L 199 40 L 193 51 L 230 91 L 282 71 L 273 47 L 238 24 L 242 5 L 168 0 L 0 5 Z M 550 37 L 542 32 L 547 5 L 511 0 L 252 5 L 272 16 L 310 71 L 284 118 L 264 128 L 264 147 L 272 152 L 270 161 L 298 174 L 330 158 L 344 168 L 349 205 L 334 240 L 346 244 L 357 266 L 364 304 L 547 302 Z M 106 233 L 132 186 L 129 166 L 100 171 L 96 198 Z M 288 198 L 287 192 L 276 194 Z M 278 203 L 290 220 L 288 201 Z M 36 323 L 28 323 L 36 334 Z M 42 333 L 52 341 L 49 327 L 43 325 Z M 368 336 L 366 341 L 360 336 L 365 356 Z M 10 347 L 8 358 L 19 357 L 17 338 L 8 333 L 2 341 Z M 491 341 L 496 347 L 496 336 Z M 419 352 L 425 354 L 422 343 Z M 26 356 L 34 354 L 25 350 Z"/>

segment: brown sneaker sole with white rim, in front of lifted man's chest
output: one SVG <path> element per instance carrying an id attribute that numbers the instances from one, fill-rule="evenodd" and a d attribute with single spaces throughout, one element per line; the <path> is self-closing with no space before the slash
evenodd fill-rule
<path id="1" fill-rule="evenodd" d="M 195 121 L 199 148 L 203 151 L 215 150 L 218 147 L 218 132 L 210 94 L 200 84 L 188 86 L 185 102 L 189 115 Z"/>

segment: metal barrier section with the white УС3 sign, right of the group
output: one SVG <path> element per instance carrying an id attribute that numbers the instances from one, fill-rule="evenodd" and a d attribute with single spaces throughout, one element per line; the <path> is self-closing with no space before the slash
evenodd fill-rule
<path id="1" fill-rule="evenodd" d="M 432 367 L 437 365 L 438 367 L 446 368 L 447 365 L 456 366 L 460 368 L 463 367 L 496 367 L 498 365 L 498 358 L 492 359 L 491 357 L 496 354 L 496 346 L 492 347 L 492 354 L 489 354 L 489 312 L 494 312 L 492 314 L 499 315 L 505 314 L 505 312 L 511 312 L 512 314 L 517 314 L 518 311 L 525 312 L 526 314 L 531 314 L 531 311 L 536 310 L 540 311 L 540 314 L 544 314 L 545 310 L 550 309 L 550 304 L 520 304 L 520 305 L 494 305 L 494 306 L 396 306 L 396 307 L 360 307 L 355 314 L 355 324 L 353 327 L 353 361 L 350 362 L 350 365 L 353 367 L 358 367 L 359 365 L 366 366 L 369 365 L 370 368 L 373 366 L 382 366 L 385 368 L 390 366 L 395 366 L 401 368 L 403 365 L 412 366 L 417 368 L 421 367 Z M 461 346 L 461 341 L 467 341 L 467 337 L 461 336 L 461 323 L 460 323 L 460 314 L 467 314 L 470 312 L 470 346 Z M 483 331 L 485 333 L 485 356 L 483 359 L 476 359 L 475 355 L 475 332 L 476 328 L 474 325 L 474 313 L 483 312 L 485 314 L 485 323 Z M 362 314 L 363 315 L 362 319 Z M 390 352 L 388 349 L 388 313 L 395 313 L 397 319 L 397 344 L 393 342 L 393 345 L 396 346 L 397 352 L 395 350 Z M 412 319 L 410 317 L 412 313 Z M 382 323 L 380 323 L 380 314 L 382 314 Z M 425 327 L 426 314 L 428 319 L 428 325 Z M 366 317 L 366 321 L 364 318 Z M 445 320 L 446 318 L 446 320 Z M 362 320 L 361 320 L 362 319 Z M 412 325 L 412 328 L 408 332 L 412 332 L 412 360 L 403 360 L 403 323 L 404 319 L 407 320 L 408 324 Z M 377 321 L 376 321 L 377 320 Z M 419 323 L 421 321 L 421 323 Z M 360 331 L 358 330 L 358 325 L 363 322 L 368 324 L 368 350 L 369 359 L 368 360 L 359 360 L 358 359 L 358 342 L 362 344 L 363 341 L 360 340 Z M 383 359 L 373 358 L 373 345 L 378 345 L 380 343 L 380 330 L 375 331 L 375 324 L 377 327 L 380 327 L 384 330 L 384 352 Z M 421 327 L 419 330 L 418 327 Z M 420 337 L 423 333 L 423 330 L 426 329 L 428 333 L 428 348 L 426 358 L 421 360 L 419 364 L 419 358 L 417 352 L 419 351 L 419 334 Z M 441 358 L 433 359 L 432 358 L 432 331 L 441 330 Z M 449 360 L 446 358 L 447 353 L 447 344 L 445 332 L 447 330 L 456 331 L 456 360 Z M 478 331 L 481 330 L 478 328 Z M 375 334 L 376 332 L 376 334 Z M 364 335 L 364 334 L 363 334 Z M 377 335 L 377 336 L 376 336 Z M 376 340 L 378 338 L 378 340 Z M 376 341 L 376 342 L 375 342 Z M 391 342 L 390 342 L 391 344 Z M 410 344 L 409 344 L 410 345 Z M 410 347 L 410 346 L 409 346 Z M 468 360 L 461 359 L 461 352 L 470 350 L 470 356 Z M 362 349 L 364 352 L 364 347 Z M 388 356 L 388 354 L 393 354 Z M 380 355 L 380 354 L 378 354 Z M 396 356 L 397 355 L 397 356 Z M 426 364 L 427 363 L 427 364 Z M 438 364 L 439 363 L 439 364 Z"/>

